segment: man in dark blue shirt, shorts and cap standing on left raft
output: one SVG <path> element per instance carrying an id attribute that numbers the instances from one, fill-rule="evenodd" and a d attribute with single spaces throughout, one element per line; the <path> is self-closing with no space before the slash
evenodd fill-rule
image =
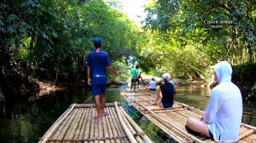
<path id="1" fill-rule="evenodd" d="M 92 95 L 95 97 L 97 116 L 94 119 L 96 121 L 102 120 L 103 115 L 108 115 L 108 112 L 104 112 L 108 83 L 106 67 L 115 76 L 119 76 L 119 72 L 113 70 L 108 53 L 102 50 L 102 39 L 96 37 L 93 44 L 96 49 L 92 50 L 87 56 L 87 78 L 88 84 L 92 88 Z"/>

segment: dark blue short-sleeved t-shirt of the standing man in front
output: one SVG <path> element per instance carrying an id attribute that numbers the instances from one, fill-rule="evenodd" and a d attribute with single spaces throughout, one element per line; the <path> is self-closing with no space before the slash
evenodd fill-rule
<path id="1" fill-rule="evenodd" d="M 110 61 L 107 52 L 92 50 L 87 57 L 87 66 L 90 67 L 91 84 L 108 83 L 106 66 L 110 66 Z"/>

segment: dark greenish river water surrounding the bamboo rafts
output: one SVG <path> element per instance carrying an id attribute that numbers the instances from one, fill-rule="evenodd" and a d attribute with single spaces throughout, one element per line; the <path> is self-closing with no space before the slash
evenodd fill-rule
<path id="1" fill-rule="evenodd" d="M 108 89 L 107 102 L 119 101 L 125 111 L 154 142 L 174 142 L 120 95 L 120 90 L 124 89 L 127 88 Z M 208 94 L 210 91 L 197 86 L 177 86 L 175 100 L 205 111 L 209 100 Z M 76 89 L 75 91 L 55 92 L 39 99 L 19 100 L 19 104 L 1 106 L 0 142 L 38 142 L 68 106 L 73 103 L 84 103 L 85 100 L 90 99 L 90 96 L 90 89 Z M 87 103 L 93 102 L 94 100 L 91 99 Z M 243 101 L 243 122 L 256 126 L 256 102 Z"/>

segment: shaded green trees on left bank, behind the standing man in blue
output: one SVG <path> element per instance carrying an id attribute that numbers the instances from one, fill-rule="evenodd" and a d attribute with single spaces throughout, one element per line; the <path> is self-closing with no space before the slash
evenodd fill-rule
<path id="1" fill-rule="evenodd" d="M 125 14 L 112 9 L 114 3 L 1 1 L 0 67 L 10 60 L 21 60 L 44 69 L 50 80 L 83 79 L 84 60 L 94 49 L 94 37 L 102 37 L 103 49 L 113 63 L 125 67 L 123 58 L 137 55 L 138 28 Z"/>

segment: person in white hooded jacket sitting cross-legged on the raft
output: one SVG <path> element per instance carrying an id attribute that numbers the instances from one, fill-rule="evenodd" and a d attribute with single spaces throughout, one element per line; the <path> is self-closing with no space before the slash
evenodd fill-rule
<path id="1" fill-rule="evenodd" d="M 242 117 L 241 91 L 231 82 L 232 67 L 220 61 L 214 68 L 218 85 L 212 89 L 203 121 L 189 117 L 185 128 L 203 134 L 212 140 L 234 142 L 239 140 Z"/>

